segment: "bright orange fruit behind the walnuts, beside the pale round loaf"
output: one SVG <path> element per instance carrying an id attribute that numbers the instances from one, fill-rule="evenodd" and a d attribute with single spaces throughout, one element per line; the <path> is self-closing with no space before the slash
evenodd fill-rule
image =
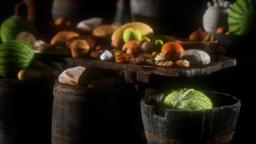
<path id="1" fill-rule="evenodd" d="M 181 44 L 170 41 L 168 43 L 165 43 L 161 47 L 161 52 L 175 52 L 175 53 L 182 53 L 184 51 L 183 47 Z"/>

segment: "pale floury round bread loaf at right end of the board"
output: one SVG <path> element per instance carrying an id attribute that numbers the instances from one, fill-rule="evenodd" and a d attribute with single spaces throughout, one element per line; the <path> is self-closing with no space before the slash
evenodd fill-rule
<path id="1" fill-rule="evenodd" d="M 205 65 L 210 63 L 210 56 L 201 50 L 185 50 L 179 54 L 179 59 L 187 60 L 191 65 Z"/>

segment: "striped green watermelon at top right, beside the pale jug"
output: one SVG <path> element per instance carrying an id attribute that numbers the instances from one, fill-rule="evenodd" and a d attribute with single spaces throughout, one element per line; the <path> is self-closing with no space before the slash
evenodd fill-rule
<path id="1" fill-rule="evenodd" d="M 230 9 L 228 26 L 231 33 L 247 35 L 255 26 L 255 0 L 237 0 Z"/>

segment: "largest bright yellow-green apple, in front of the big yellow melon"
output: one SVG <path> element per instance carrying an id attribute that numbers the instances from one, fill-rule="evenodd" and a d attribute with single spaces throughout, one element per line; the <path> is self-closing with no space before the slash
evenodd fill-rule
<path id="1" fill-rule="evenodd" d="M 134 29 L 134 28 L 126 28 L 124 33 L 123 33 L 123 39 L 125 41 L 125 43 L 127 43 L 130 40 L 141 40 L 141 31 L 139 31 L 138 29 Z"/>

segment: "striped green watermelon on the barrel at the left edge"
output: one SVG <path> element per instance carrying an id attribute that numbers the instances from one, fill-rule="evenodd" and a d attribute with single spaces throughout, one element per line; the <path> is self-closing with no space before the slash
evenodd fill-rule
<path id="1" fill-rule="evenodd" d="M 0 44 L 0 75 L 4 78 L 17 78 L 22 69 L 34 62 L 34 51 L 21 40 L 9 40 Z"/>

